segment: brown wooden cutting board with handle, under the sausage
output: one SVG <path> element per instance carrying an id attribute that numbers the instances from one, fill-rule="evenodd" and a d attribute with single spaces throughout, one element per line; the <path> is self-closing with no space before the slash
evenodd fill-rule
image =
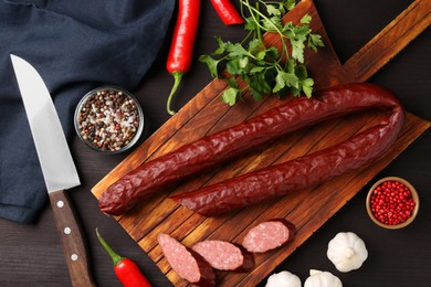
<path id="1" fill-rule="evenodd" d="M 367 81 L 429 26 L 430 11 L 431 1 L 414 1 L 344 65 L 336 56 L 312 0 L 299 2 L 285 15 L 284 20 L 298 21 L 305 13 L 308 13 L 313 17 L 312 29 L 323 36 L 326 46 L 318 53 L 309 52 L 306 54 L 306 64 L 315 78 L 315 88 L 318 89 L 348 82 Z M 280 46 L 278 40 L 272 34 L 266 34 L 265 41 Z M 204 135 L 236 125 L 281 103 L 276 97 L 269 97 L 259 103 L 246 97 L 244 103 L 229 107 L 219 99 L 224 88 L 227 85 L 221 81 L 214 79 L 209 83 L 177 115 L 171 117 L 98 182 L 92 189 L 93 194 L 98 198 L 123 174 L 149 159 L 167 153 Z M 250 273 L 217 273 L 217 283 L 220 286 L 256 285 L 427 130 L 430 123 L 408 113 L 399 139 L 385 155 L 367 167 L 327 181 L 317 188 L 262 202 L 240 212 L 218 217 L 204 217 L 179 206 L 167 196 L 172 192 L 190 191 L 204 184 L 333 146 L 376 125 L 380 118 L 381 115 L 378 113 L 367 111 L 298 130 L 219 169 L 198 174 L 175 190 L 167 190 L 165 193 L 151 198 L 116 220 L 174 285 L 186 286 L 188 283 L 171 270 L 162 256 L 156 241 L 159 233 L 168 233 L 188 246 L 206 238 L 241 242 L 244 233 L 259 222 L 285 217 L 297 227 L 297 236 L 291 244 L 273 252 L 256 255 L 256 267 Z"/>

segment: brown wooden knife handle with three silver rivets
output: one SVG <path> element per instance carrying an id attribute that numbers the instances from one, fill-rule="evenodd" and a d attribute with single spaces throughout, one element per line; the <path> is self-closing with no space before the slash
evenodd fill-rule
<path id="1" fill-rule="evenodd" d="M 96 286 L 90 273 L 84 237 L 71 201 L 64 190 L 50 192 L 49 195 L 72 285 L 75 287 Z"/>

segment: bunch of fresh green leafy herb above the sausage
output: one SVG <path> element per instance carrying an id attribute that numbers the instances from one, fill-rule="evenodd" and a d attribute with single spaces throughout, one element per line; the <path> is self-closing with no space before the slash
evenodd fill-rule
<path id="1" fill-rule="evenodd" d="M 223 41 L 216 36 L 217 50 L 210 55 L 201 55 L 199 61 L 206 63 L 212 77 L 224 78 L 229 88 L 224 91 L 222 100 L 233 106 L 249 89 L 255 100 L 265 94 L 278 97 L 291 93 L 294 96 L 305 94 L 312 96 L 314 81 L 308 76 L 304 65 L 306 47 L 317 52 L 324 46 L 320 35 L 309 28 L 312 17 L 305 14 L 298 24 L 282 23 L 285 13 L 295 7 L 295 0 L 263 1 L 240 0 L 241 14 L 245 19 L 248 32 L 240 43 Z M 263 33 L 275 33 L 282 40 L 282 49 L 266 46 Z M 287 45 L 287 43 L 290 45 Z M 232 77 L 223 77 L 220 67 L 225 67 Z M 245 82 L 240 87 L 238 78 Z"/>

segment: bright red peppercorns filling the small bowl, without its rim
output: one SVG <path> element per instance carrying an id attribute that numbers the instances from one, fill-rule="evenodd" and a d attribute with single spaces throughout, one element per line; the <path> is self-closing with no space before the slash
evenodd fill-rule
<path id="1" fill-rule="evenodd" d="M 412 215 L 414 206 L 410 189 L 395 180 L 380 183 L 370 196 L 372 215 L 388 225 L 406 222 Z"/>

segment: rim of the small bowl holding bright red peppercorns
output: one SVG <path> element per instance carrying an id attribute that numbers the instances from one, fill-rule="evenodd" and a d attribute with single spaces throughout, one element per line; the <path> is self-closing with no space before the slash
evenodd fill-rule
<path id="1" fill-rule="evenodd" d="M 414 204 L 414 209 L 413 209 L 410 217 L 407 219 L 407 221 L 404 221 L 402 223 L 399 223 L 399 224 L 396 224 L 396 225 L 389 225 L 389 224 L 382 223 L 379 220 L 377 220 L 375 217 L 375 215 L 372 214 L 371 208 L 370 208 L 370 200 L 371 200 L 371 194 L 372 194 L 374 190 L 378 185 L 380 185 L 381 183 L 383 183 L 386 181 L 398 181 L 398 182 L 404 184 L 410 190 L 412 200 L 416 203 Z M 372 184 L 372 187 L 368 191 L 367 199 L 366 199 L 365 203 L 366 203 L 367 213 L 368 213 L 369 217 L 371 219 L 371 221 L 374 223 L 376 223 L 377 225 L 379 225 L 380 227 L 383 227 L 383 228 L 398 230 L 398 228 L 406 227 L 407 225 L 409 225 L 410 223 L 412 223 L 414 221 L 414 219 L 416 219 L 416 216 L 418 215 L 418 212 L 419 212 L 420 200 L 419 200 L 418 191 L 416 190 L 416 188 L 409 181 L 407 181 L 403 178 L 399 178 L 399 177 L 386 177 L 386 178 L 382 178 L 382 179 L 376 181 L 376 183 Z"/>

